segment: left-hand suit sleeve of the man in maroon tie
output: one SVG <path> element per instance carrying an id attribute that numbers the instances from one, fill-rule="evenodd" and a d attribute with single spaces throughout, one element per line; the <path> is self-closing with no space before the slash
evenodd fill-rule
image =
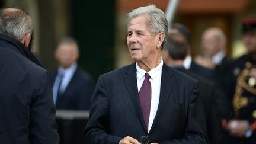
<path id="1" fill-rule="evenodd" d="M 117 118 L 118 119 L 118 118 Z M 90 119 L 84 130 L 87 143 L 119 143 L 121 137 L 108 134 L 108 99 L 102 76 L 99 77 L 92 97 Z"/>

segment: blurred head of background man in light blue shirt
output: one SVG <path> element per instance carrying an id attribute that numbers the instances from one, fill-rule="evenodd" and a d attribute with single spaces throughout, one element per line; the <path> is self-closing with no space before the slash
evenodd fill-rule
<path id="1" fill-rule="evenodd" d="M 78 59 L 78 48 L 75 43 L 62 43 L 56 50 L 55 57 L 63 68 L 68 68 Z"/>

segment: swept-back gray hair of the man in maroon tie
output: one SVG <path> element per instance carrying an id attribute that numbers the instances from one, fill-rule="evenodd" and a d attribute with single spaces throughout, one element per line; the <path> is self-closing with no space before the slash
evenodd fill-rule
<path id="1" fill-rule="evenodd" d="M 140 15 L 149 15 L 149 17 L 151 17 L 151 20 L 149 20 L 148 27 L 148 31 L 150 33 L 164 33 L 165 37 L 162 43 L 161 50 L 164 49 L 168 36 L 168 21 L 165 18 L 164 12 L 161 9 L 156 8 L 155 5 L 139 7 L 137 9 L 134 9 L 132 12 L 129 12 L 129 14 L 127 14 L 127 24 L 129 24 L 133 18 L 138 17 Z"/>

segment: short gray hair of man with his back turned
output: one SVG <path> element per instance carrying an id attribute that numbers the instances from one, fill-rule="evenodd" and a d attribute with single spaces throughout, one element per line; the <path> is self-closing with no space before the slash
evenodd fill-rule
<path id="1" fill-rule="evenodd" d="M 20 9 L 6 8 L 0 10 L 0 33 L 7 34 L 21 41 L 25 34 L 32 33 L 31 16 Z"/>

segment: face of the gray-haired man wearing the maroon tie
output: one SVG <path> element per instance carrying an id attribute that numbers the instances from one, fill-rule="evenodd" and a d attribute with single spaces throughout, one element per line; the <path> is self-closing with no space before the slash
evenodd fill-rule
<path id="1" fill-rule="evenodd" d="M 128 25 L 127 45 L 132 59 L 136 62 L 148 62 L 161 55 L 161 47 L 157 48 L 158 34 L 148 31 L 148 20 L 148 16 L 140 15 L 133 18 Z"/>

